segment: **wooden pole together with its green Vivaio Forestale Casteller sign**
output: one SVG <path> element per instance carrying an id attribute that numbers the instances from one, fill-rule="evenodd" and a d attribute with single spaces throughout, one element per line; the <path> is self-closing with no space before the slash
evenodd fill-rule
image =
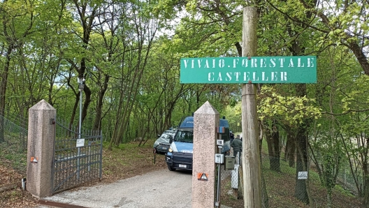
<path id="1" fill-rule="evenodd" d="M 243 195 L 245 207 L 261 207 L 256 83 L 317 83 L 317 57 L 256 57 L 257 11 L 243 10 L 243 57 L 182 58 L 181 83 L 242 84 Z M 244 84 L 247 83 L 247 84 Z"/>

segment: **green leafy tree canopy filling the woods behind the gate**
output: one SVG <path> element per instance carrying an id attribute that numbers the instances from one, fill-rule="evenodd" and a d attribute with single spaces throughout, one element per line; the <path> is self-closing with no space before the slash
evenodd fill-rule
<path id="1" fill-rule="evenodd" d="M 314 153 L 319 152 L 319 165 L 326 170 L 326 185 L 331 187 L 335 160 L 345 154 L 356 162 L 367 157 L 368 146 L 360 141 L 368 134 L 369 80 L 352 44 L 359 46 L 355 52 L 366 54 L 369 26 L 362 20 L 367 19 L 369 6 L 363 1 L 337 1 L 326 8 L 328 5 L 312 2 L 258 2 L 259 56 L 318 56 L 318 83 L 307 85 L 307 96 L 296 96 L 292 84 L 265 84 L 258 94 L 258 113 L 261 121 L 275 119 L 284 131 L 314 121 L 315 126 L 309 129 L 314 135 L 310 144 Z M 82 18 L 78 13 L 80 3 L 85 6 Z M 240 85 L 181 84 L 180 58 L 240 56 L 243 8 L 252 3 L 3 2 L 1 72 L 7 60 L 6 49 L 15 44 L 9 54 L 5 106 L 27 114 L 29 107 L 45 99 L 64 120 L 77 124 L 76 76 L 85 64 L 91 103 L 86 102 L 83 126 L 92 128 L 97 119 L 108 141 L 124 125 L 119 141 L 143 135 L 154 138 L 178 125 L 184 115 L 195 112 L 205 101 L 226 116 L 233 131 L 240 131 Z M 86 28 L 82 20 L 94 20 L 94 24 Z M 89 39 L 84 43 L 87 31 Z M 97 115 L 99 107 L 101 117 Z M 351 146 L 342 150 L 338 139 Z M 124 146 L 116 148 L 126 150 Z"/>

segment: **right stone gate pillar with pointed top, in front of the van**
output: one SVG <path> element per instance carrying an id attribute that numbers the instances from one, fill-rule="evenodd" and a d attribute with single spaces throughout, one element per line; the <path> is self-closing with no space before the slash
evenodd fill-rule
<path id="1" fill-rule="evenodd" d="M 192 207 L 215 207 L 215 154 L 219 112 L 206 101 L 194 113 Z"/>

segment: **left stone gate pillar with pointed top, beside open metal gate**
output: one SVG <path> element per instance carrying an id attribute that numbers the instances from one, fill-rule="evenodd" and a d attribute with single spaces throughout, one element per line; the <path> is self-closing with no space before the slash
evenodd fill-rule
<path id="1" fill-rule="evenodd" d="M 56 114 L 44 100 L 29 108 L 26 187 L 36 198 L 52 195 Z"/>

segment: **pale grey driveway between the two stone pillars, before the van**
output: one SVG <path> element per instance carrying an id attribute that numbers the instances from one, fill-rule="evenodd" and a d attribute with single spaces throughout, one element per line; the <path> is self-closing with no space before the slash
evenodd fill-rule
<path id="1" fill-rule="evenodd" d="M 191 207 L 191 172 L 158 170 L 113 184 L 57 193 L 45 201 L 89 208 Z"/>

